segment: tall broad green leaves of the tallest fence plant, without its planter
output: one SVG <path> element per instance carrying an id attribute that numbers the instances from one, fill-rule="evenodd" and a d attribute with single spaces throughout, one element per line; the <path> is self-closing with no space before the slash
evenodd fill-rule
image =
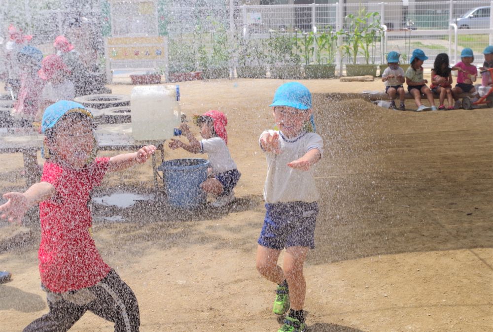
<path id="1" fill-rule="evenodd" d="M 359 7 L 358 15 L 346 16 L 349 22 L 348 30 L 338 32 L 343 35 L 346 42 L 341 46 L 344 54 L 353 65 L 357 62 L 358 54 L 361 54 L 366 64 L 370 62 L 370 56 L 375 55 L 375 45 L 378 38 L 382 37 L 380 25 L 380 14 L 378 12 L 367 12 L 364 7 Z"/>

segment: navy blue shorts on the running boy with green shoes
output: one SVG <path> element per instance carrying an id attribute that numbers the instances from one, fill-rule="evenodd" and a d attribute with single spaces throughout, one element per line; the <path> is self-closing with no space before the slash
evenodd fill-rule
<path id="1" fill-rule="evenodd" d="M 298 246 L 315 248 L 317 202 L 267 203 L 265 208 L 258 244 L 277 250 Z"/>

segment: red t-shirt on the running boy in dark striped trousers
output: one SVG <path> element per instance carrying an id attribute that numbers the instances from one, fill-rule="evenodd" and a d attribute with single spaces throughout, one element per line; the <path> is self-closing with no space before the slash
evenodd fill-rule
<path id="1" fill-rule="evenodd" d="M 38 259 L 41 282 L 52 292 L 94 286 L 111 269 L 89 234 L 89 194 L 103 180 L 108 165 L 109 158 L 97 158 L 83 169 L 44 163 L 41 181 L 51 183 L 57 194 L 39 203 Z"/>

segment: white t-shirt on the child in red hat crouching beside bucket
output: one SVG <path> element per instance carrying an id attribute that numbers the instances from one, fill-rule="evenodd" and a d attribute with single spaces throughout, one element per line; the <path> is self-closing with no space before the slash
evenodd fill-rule
<path id="1" fill-rule="evenodd" d="M 226 142 L 221 137 L 211 137 L 200 141 L 200 152 L 209 155 L 209 163 L 213 174 L 236 169 Z"/>

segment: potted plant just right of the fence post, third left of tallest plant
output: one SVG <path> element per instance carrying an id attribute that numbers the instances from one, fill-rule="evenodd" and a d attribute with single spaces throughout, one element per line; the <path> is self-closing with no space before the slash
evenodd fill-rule
<path id="1" fill-rule="evenodd" d="M 238 77 L 265 78 L 267 56 L 264 53 L 264 39 L 244 39 L 240 47 L 239 66 L 236 68 Z"/>

